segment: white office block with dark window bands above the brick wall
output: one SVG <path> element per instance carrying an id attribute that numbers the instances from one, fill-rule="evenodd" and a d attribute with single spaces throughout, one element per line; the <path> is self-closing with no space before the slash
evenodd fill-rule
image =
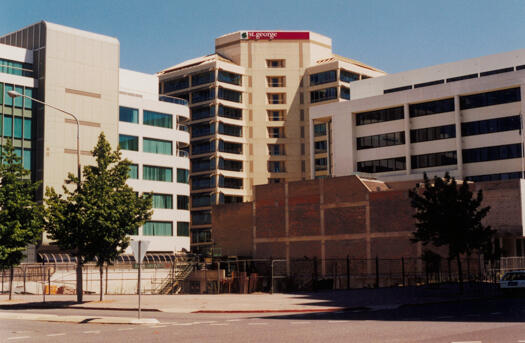
<path id="1" fill-rule="evenodd" d="M 315 177 L 522 177 L 525 50 L 354 82 L 350 91 L 350 101 L 310 112 Z"/>

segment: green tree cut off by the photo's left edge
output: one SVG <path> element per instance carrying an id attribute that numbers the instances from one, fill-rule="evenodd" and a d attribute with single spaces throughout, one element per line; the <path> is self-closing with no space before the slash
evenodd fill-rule
<path id="1" fill-rule="evenodd" d="M 0 162 L 0 266 L 9 267 L 9 300 L 13 297 L 13 267 L 20 264 L 28 244 L 41 238 L 44 208 L 35 202 L 40 182 L 32 182 L 29 170 L 5 140 Z"/>

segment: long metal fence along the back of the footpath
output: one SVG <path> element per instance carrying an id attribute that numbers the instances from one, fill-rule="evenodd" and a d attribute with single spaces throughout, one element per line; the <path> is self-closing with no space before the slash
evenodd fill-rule
<path id="1" fill-rule="evenodd" d="M 509 270 L 525 269 L 525 257 L 495 262 L 462 259 L 463 280 L 495 283 Z M 8 269 L 0 270 L 1 292 L 9 290 Z M 106 294 L 136 294 L 137 265 L 104 267 Z M 75 264 L 22 264 L 14 268 L 13 290 L 27 294 L 74 294 Z M 459 281 L 455 260 L 429 263 L 421 258 L 400 259 L 179 259 L 146 263 L 142 269 L 143 294 L 253 293 L 315 291 L 372 287 L 439 285 Z M 83 266 L 83 288 L 98 293 L 100 271 Z"/>

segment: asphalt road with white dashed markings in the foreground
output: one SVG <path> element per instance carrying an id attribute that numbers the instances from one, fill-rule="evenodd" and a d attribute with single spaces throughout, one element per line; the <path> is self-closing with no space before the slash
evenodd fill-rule
<path id="1" fill-rule="evenodd" d="M 60 315 L 87 310 L 17 310 Z M 133 316 L 95 311 L 89 315 Z M 1 342 L 525 342 L 525 299 L 308 314 L 145 312 L 155 325 L 0 322 Z"/>

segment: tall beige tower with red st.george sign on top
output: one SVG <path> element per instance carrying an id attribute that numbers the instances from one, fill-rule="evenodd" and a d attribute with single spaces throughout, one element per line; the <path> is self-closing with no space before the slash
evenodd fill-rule
<path id="1" fill-rule="evenodd" d="M 162 94 L 190 104 L 192 247 L 209 252 L 211 206 L 309 178 L 310 107 L 349 99 L 350 82 L 384 73 L 334 55 L 314 32 L 240 31 L 158 75 Z"/>

